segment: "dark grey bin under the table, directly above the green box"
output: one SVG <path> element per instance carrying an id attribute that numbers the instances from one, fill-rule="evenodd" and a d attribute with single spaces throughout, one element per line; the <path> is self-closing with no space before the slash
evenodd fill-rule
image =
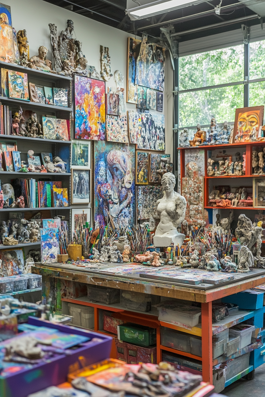
<path id="1" fill-rule="evenodd" d="M 126 309 L 150 312 L 151 295 L 135 291 L 120 291 L 120 304 Z"/>

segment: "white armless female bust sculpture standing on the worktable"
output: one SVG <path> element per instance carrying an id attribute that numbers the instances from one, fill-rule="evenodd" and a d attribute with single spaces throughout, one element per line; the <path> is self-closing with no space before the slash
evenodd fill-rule
<path id="1" fill-rule="evenodd" d="M 155 231 L 154 245 L 168 247 L 172 242 L 174 245 L 182 245 L 185 235 L 178 233 L 177 227 L 185 218 L 186 199 L 174 191 L 176 178 L 171 172 L 166 172 L 163 175 L 161 183 L 164 196 L 157 200 L 160 222 Z"/>

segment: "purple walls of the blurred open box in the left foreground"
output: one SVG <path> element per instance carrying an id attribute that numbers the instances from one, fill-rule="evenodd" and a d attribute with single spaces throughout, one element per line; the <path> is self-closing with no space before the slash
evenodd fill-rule
<path id="1" fill-rule="evenodd" d="M 86 337 L 100 338 L 101 341 L 89 343 L 87 346 L 73 350 L 71 355 L 60 355 L 49 362 L 37 364 L 34 368 L 26 368 L 9 376 L 0 376 L 1 397 L 27 397 L 31 393 L 56 386 L 67 381 L 68 373 L 84 366 L 94 364 L 110 357 L 112 337 L 81 328 L 52 324 L 46 320 L 29 317 L 29 324 L 54 328 L 61 332 L 74 333 Z M 19 364 L 14 363 L 14 367 Z"/>

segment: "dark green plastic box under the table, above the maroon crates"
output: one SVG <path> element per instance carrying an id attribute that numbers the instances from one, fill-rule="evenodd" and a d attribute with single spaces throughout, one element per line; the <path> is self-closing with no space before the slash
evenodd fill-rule
<path id="1" fill-rule="evenodd" d="M 157 332 L 155 328 L 126 323 L 118 325 L 117 330 L 118 339 L 124 342 L 149 347 L 150 345 L 154 345 L 157 341 Z"/>

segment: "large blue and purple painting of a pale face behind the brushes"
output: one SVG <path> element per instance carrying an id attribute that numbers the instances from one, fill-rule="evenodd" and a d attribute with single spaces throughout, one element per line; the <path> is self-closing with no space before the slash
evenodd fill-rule
<path id="1" fill-rule="evenodd" d="M 95 221 L 116 227 L 135 223 L 135 146 L 114 142 L 94 145 Z"/>

